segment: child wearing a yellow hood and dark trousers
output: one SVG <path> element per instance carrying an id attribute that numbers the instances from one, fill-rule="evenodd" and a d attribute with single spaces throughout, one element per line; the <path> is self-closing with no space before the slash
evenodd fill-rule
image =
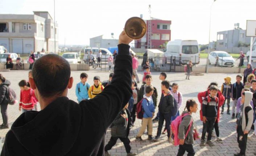
<path id="1" fill-rule="evenodd" d="M 228 105 L 228 109 L 227 109 L 227 114 L 230 114 L 230 98 L 231 98 L 231 88 L 232 88 L 232 84 L 231 84 L 231 77 L 228 76 L 224 79 L 225 83 L 222 84 L 221 86 L 221 93 L 222 95 L 225 97 L 225 101 L 222 105 L 222 110 L 221 110 L 221 114 L 224 113 L 224 105 L 225 102 L 227 101 L 227 105 Z"/>

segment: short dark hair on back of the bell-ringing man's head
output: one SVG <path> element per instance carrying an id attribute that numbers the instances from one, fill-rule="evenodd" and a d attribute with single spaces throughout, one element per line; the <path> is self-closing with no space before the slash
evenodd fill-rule
<path id="1" fill-rule="evenodd" d="M 42 97 L 61 95 L 69 83 L 70 65 L 59 55 L 44 55 L 34 62 L 32 75 Z"/>

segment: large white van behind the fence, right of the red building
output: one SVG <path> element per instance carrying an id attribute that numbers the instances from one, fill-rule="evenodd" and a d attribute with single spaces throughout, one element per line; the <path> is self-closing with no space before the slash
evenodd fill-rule
<path id="1" fill-rule="evenodd" d="M 197 40 L 169 41 L 166 45 L 165 57 L 170 56 L 180 58 L 182 63 L 187 63 L 190 59 L 193 64 L 199 64 L 200 54 Z"/>

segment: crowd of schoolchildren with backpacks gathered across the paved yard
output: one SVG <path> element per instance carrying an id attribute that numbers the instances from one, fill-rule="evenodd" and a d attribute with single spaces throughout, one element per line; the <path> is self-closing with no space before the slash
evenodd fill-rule
<path id="1" fill-rule="evenodd" d="M 147 67 L 145 67 L 144 72 Z M 29 77 L 32 78 L 32 72 L 29 72 Z M 113 73 L 110 73 L 109 80 L 100 81 L 99 76 L 94 77 L 94 84 L 91 86 L 87 83 L 88 75 L 86 73 L 80 74 L 80 82 L 76 85 L 75 93 L 78 102 L 82 100 L 94 98 L 97 94 L 101 93 L 107 85 L 111 84 Z M 132 92 L 133 95 L 129 103 L 123 108 L 117 115 L 115 121 L 111 125 L 111 138 L 108 144 L 105 146 L 105 155 L 110 156 L 108 150 L 110 150 L 115 144 L 117 139 L 120 139 L 125 146 L 127 156 L 135 156 L 136 153 L 131 152 L 129 130 L 135 123 L 136 118 L 139 118 L 141 114 L 142 123 L 138 134 L 136 135 L 136 141 L 145 142 L 142 136 L 146 130 L 149 141 L 159 141 L 160 135 L 165 134 L 167 131 L 168 141 L 174 142 L 174 133 L 171 131 L 171 123 L 180 120 L 178 125 L 178 132 L 176 132 L 179 150 L 177 156 L 182 156 L 187 151 L 187 155 L 195 155 L 193 149 L 193 143 L 195 138 L 195 126 L 191 116 L 192 113 L 197 112 L 197 102 L 194 100 L 187 100 L 185 109 L 181 113 L 179 109 L 182 105 L 182 94 L 178 91 L 178 84 L 173 83 L 170 85 L 169 81 L 166 81 L 166 73 L 160 73 L 159 79 L 161 82 L 161 98 L 158 104 L 158 113 L 155 112 L 157 107 L 157 89 L 152 85 L 152 76 L 150 74 L 144 74 L 144 81 L 139 89 L 136 82 L 136 73 L 132 75 Z M 253 134 L 256 135 L 256 121 L 255 121 L 255 109 L 256 109 L 256 80 L 255 76 L 247 76 L 247 85 L 249 88 L 244 87 L 244 83 L 241 82 L 242 76 L 236 76 L 236 82 L 231 83 L 231 77 L 226 77 L 222 84 L 221 90 L 218 89 L 218 84 L 212 82 L 206 91 L 198 93 L 198 101 L 201 104 L 200 117 L 203 121 L 203 131 L 201 136 L 200 146 L 214 146 L 211 141 L 212 137 L 217 137 L 216 141 L 222 143 L 222 139 L 219 137 L 218 122 L 220 114 L 224 113 L 224 105 L 227 102 L 227 114 L 230 114 L 230 99 L 232 98 L 232 119 L 237 119 L 237 141 L 239 143 L 240 152 L 235 156 L 244 156 L 247 144 L 247 137 L 249 130 L 254 129 Z M 34 90 L 30 88 L 28 81 L 21 80 L 18 84 L 21 89 L 20 93 L 20 106 L 19 110 L 22 112 L 28 110 L 37 110 L 37 98 Z M 255 93 L 255 94 L 253 94 Z M 138 112 L 138 106 L 141 107 L 141 111 Z M 220 112 L 220 107 L 222 108 Z M 176 110 L 176 111 L 175 111 Z M 153 119 L 153 117 L 156 117 Z M 158 121 L 157 135 L 153 139 L 153 122 Z M 162 127 L 165 121 L 164 131 Z M 253 127 L 254 123 L 254 127 Z M 216 136 L 213 133 L 215 129 Z M 207 140 L 205 137 L 207 136 Z M 177 141 L 177 140 L 176 140 Z M 255 153 L 256 155 L 256 153 Z"/>

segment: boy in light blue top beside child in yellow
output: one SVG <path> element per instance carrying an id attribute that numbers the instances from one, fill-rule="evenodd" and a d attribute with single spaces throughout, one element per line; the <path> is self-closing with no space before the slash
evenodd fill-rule
<path id="1" fill-rule="evenodd" d="M 90 84 L 86 82 L 88 79 L 87 73 L 81 73 L 80 79 L 81 81 L 77 84 L 75 88 L 75 95 L 77 96 L 78 103 L 80 103 L 82 100 L 89 98 L 88 90 L 90 88 Z"/>

